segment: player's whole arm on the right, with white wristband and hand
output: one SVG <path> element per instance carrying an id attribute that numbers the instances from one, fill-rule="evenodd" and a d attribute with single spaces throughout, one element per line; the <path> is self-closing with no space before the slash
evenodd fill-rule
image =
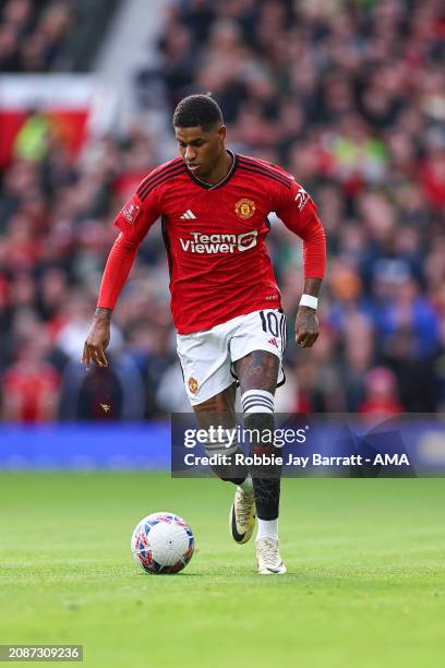
<path id="1" fill-rule="evenodd" d="M 325 231 L 314 202 L 298 183 L 280 200 L 276 213 L 303 240 L 304 291 L 297 312 L 296 341 L 310 348 L 318 338 L 316 309 L 326 266 Z"/>

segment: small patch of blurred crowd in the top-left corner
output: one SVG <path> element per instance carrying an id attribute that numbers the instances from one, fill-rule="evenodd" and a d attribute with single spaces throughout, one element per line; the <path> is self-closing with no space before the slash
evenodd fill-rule
<path id="1" fill-rule="evenodd" d="M 69 0 L 0 2 L 0 72 L 48 72 L 72 23 Z"/>

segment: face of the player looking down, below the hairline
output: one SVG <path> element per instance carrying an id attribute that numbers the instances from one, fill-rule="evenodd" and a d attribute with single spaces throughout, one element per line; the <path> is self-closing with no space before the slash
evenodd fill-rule
<path id="1" fill-rule="evenodd" d="M 203 130 L 202 128 L 176 128 L 179 151 L 190 171 L 205 179 L 212 175 L 225 152 L 225 126 Z"/>

